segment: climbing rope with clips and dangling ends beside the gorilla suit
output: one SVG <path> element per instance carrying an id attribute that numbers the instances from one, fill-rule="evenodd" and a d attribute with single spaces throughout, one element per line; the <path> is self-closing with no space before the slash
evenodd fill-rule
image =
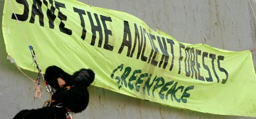
<path id="1" fill-rule="evenodd" d="M 13 8 L 13 5 L 11 4 L 11 1 L 8 0 L 8 2 L 9 2 L 9 5 L 10 5 L 10 7 L 11 7 L 11 10 L 13 11 L 13 14 L 14 14 L 14 16 L 15 16 L 15 19 L 16 19 L 17 23 L 18 23 L 18 26 L 20 27 L 20 30 L 21 30 L 21 32 L 23 33 L 23 37 L 24 37 L 24 39 L 25 39 L 27 45 L 29 46 L 30 52 L 31 52 L 31 54 L 32 54 L 33 62 L 36 64 L 36 68 L 38 68 L 38 77 L 36 78 L 36 80 L 33 80 L 33 79 L 32 79 L 32 80 L 33 80 L 33 83 L 36 85 L 36 86 L 35 86 L 34 98 L 35 98 L 35 99 L 40 99 L 40 97 L 41 97 L 41 95 L 42 95 L 42 86 L 40 85 L 41 76 L 42 76 L 43 82 L 44 82 L 44 84 L 45 84 L 45 86 L 46 86 L 46 90 L 47 90 L 48 92 L 51 92 L 51 93 L 53 92 L 53 90 L 51 89 L 51 86 L 49 86 L 49 85 L 46 83 L 46 81 L 45 81 L 45 78 L 44 78 L 44 76 L 43 76 L 42 70 L 41 70 L 41 68 L 39 67 L 38 61 L 36 60 L 35 51 L 33 50 L 32 45 L 30 45 L 29 40 L 27 39 L 27 36 L 26 36 L 26 34 L 25 34 L 24 30 L 23 30 L 23 27 L 21 27 L 20 21 L 18 20 L 18 17 L 17 17 L 17 15 L 16 15 L 15 12 L 14 12 L 14 8 Z M 15 64 L 15 65 L 18 67 L 17 64 Z M 20 67 L 18 67 L 18 70 L 21 71 Z M 21 71 L 21 72 L 23 73 L 23 71 Z M 24 74 L 25 76 L 27 76 L 25 73 L 23 73 L 23 74 Z M 27 77 L 29 77 L 29 76 L 27 76 Z M 29 77 L 29 79 L 31 79 L 31 78 Z"/>

